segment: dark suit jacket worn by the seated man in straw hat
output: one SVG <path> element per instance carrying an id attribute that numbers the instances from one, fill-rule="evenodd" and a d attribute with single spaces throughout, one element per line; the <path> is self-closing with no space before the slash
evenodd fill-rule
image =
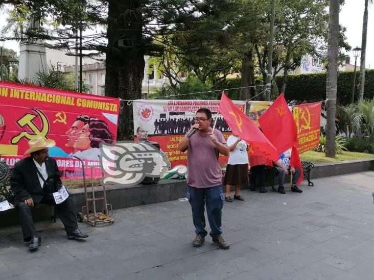
<path id="1" fill-rule="evenodd" d="M 49 158 L 45 161 L 45 167 L 48 172 L 49 187 L 40 186 L 39 176 L 32 157 L 17 162 L 13 167 L 10 177 L 10 188 L 14 193 L 14 204 L 32 198 L 34 203 L 39 203 L 45 194 L 56 192 L 62 187 L 60 173 L 58 171 L 56 160 Z"/>

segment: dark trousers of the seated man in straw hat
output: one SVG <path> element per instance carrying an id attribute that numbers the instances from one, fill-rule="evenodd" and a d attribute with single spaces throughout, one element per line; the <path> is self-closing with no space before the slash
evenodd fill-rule
<path id="1" fill-rule="evenodd" d="M 56 205 L 55 199 L 52 195 L 44 195 L 39 204 L 55 206 L 57 216 L 64 224 L 66 232 L 72 232 L 78 228 L 77 217 L 74 211 L 74 203 L 71 197 L 68 197 L 61 204 Z M 25 202 L 20 202 L 18 209 L 24 240 L 29 241 L 32 236 L 36 235 L 31 207 Z"/>

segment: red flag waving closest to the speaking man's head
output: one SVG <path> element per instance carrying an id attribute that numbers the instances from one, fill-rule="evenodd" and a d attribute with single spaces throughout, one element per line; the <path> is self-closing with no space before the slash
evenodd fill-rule
<path id="1" fill-rule="evenodd" d="M 250 147 L 249 152 L 261 152 L 262 155 L 273 161 L 278 160 L 279 155 L 276 148 L 270 143 L 265 135 L 257 128 L 253 121 L 222 92 L 219 112 L 224 117 L 231 131 L 239 135 Z"/>

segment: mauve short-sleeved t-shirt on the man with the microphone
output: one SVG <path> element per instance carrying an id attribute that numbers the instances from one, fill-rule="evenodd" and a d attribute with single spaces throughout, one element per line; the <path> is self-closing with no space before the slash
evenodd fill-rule
<path id="1" fill-rule="evenodd" d="M 212 132 L 213 129 L 209 129 Z M 219 130 L 214 130 L 218 142 L 227 145 Z M 209 134 L 196 132 L 187 147 L 187 184 L 194 188 L 211 188 L 222 184 L 222 171 L 218 164 L 219 151 Z"/>

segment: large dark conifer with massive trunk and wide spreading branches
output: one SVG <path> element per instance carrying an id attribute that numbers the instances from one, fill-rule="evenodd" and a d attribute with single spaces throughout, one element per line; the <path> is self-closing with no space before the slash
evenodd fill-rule
<path id="1" fill-rule="evenodd" d="M 222 7 L 228 9 L 232 4 L 228 0 L 14 0 L 8 3 L 15 7 L 24 5 L 33 11 L 35 20 L 51 18 L 56 26 L 62 24 L 63 28 L 59 29 L 48 29 L 44 24 L 28 32 L 28 39 L 49 40 L 50 47 L 74 48 L 78 30 L 106 27 L 106 32 L 84 36 L 82 49 L 91 52 L 86 56 L 106 54 L 106 94 L 130 100 L 141 97 L 144 56 L 162 54 L 163 47 L 155 44 L 155 38 L 172 36 L 175 42 L 182 42 L 182 52 L 201 54 L 206 38 L 219 36 L 223 29 L 222 21 L 217 20 L 223 13 L 217 14 L 217 7 L 224 11 Z M 208 29 L 200 28 L 199 22 L 205 23 Z M 183 45 L 183 38 L 188 37 L 194 44 Z M 119 140 L 133 135 L 132 119 L 131 107 L 121 106 Z"/>

